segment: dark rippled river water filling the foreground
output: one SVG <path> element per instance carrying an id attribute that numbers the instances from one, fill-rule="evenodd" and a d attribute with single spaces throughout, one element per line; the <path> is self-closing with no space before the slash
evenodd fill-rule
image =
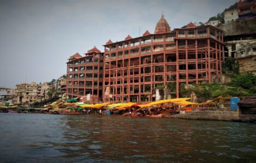
<path id="1" fill-rule="evenodd" d="M 256 124 L 0 114 L 0 162 L 254 162 Z"/>

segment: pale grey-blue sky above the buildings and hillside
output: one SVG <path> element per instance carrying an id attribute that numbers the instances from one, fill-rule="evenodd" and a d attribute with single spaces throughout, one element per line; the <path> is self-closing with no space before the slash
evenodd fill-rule
<path id="1" fill-rule="evenodd" d="M 67 59 L 111 39 L 154 33 L 162 12 L 170 28 L 206 22 L 235 0 L 0 0 L 0 87 L 50 82 Z M 140 29 L 140 30 L 139 30 Z"/>

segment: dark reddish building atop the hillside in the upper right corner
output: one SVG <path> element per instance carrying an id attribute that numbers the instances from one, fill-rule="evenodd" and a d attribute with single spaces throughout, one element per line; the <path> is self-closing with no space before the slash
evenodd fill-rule
<path id="1" fill-rule="evenodd" d="M 239 19 L 252 19 L 256 17 L 256 1 L 239 1 L 237 4 Z"/>

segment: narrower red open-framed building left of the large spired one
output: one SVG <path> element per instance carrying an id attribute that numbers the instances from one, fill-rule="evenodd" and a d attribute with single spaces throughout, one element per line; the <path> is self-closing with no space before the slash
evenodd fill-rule
<path id="1" fill-rule="evenodd" d="M 84 57 L 76 53 L 67 62 L 66 96 L 83 97 L 83 101 L 102 98 L 103 53 L 96 47 Z"/>

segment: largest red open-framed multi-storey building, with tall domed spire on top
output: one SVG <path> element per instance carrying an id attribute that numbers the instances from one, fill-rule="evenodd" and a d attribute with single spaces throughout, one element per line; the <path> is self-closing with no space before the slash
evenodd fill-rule
<path id="1" fill-rule="evenodd" d="M 114 102 L 153 101 L 154 90 L 167 83 L 176 85 L 179 97 L 179 83 L 211 83 L 224 60 L 221 29 L 189 23 L 171 31 L 163 16 L 154 34 L 147 30 L 141 37 L 109 40 L 104 47 L 103 99 Z"/>

